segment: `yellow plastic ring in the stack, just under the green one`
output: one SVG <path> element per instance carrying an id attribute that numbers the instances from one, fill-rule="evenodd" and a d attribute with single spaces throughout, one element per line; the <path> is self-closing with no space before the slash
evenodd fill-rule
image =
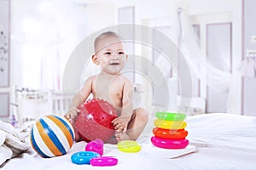
<path id="1" fill-rule="evenodd" d="M 164 129 L 183 129 L 187 126 L 187 123 L 183 121 L 163 121 L 156 119 L 154 126 Z"/>

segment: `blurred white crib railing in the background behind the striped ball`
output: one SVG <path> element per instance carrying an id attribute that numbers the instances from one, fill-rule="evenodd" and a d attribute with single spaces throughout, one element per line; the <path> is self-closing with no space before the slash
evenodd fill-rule
<path id="1" fill-rule="evenodd" d="M 17 91 L 17 118 L 19 122 L 37 120 L 49 114 L 65 115 L 73 94 L 56 91 Z"/>

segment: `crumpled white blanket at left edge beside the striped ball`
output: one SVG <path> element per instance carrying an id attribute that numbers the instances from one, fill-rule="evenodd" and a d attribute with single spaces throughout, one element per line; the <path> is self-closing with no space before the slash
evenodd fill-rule
<path id="1" fill-rule="evenodd" d="M 19 156 L 29 149 L 29 133 L 33 122 L 26 122 L 19 128 L 0 120 L 0 166 L 6 160 Z"/>

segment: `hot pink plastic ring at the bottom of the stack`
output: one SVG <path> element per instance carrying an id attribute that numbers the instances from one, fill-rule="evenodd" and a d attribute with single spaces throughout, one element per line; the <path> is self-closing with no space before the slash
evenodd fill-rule
<path id="1" fill-rule="evenodd" d="M 164 149 L 183 149 L 189 144 L 188 139 L 161 139 L 158 137 L 151 138 L 152 144 Z"/>

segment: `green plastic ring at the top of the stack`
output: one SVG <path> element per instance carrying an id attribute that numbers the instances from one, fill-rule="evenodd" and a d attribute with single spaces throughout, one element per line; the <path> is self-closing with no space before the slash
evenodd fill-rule
<path id="1" fill-rule="evenodd" d="M 170 113 L 163 111 L 156 112 L 155 116 L 160 120 L 166 121 L 183 121 L 186 118 L 186 114 L 183 113 Z"/>

